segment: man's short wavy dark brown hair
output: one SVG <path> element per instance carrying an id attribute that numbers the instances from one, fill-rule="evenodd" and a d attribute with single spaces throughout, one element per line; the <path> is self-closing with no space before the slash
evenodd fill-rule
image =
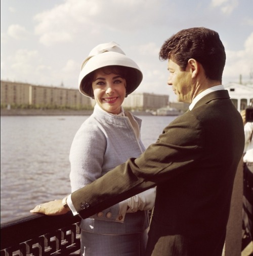
<path id="1" fill-rule="evenodd" d="M 163 43 L 159 58 L 172 59 L 183 71 L 188 60 L 193 58 L 203 66 L 207 79 L 222 82 L 226 53 L 214 30 L 193 27 L 179 31 Z"/>

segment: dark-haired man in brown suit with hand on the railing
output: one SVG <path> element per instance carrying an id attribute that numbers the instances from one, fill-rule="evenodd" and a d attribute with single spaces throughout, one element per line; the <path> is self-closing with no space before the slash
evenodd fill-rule
<path id="1" fill-rule="evenodd" d="M 219 256 L 226 236 L 233 181 L 244 148 L 240 113 L 221 85 L 226 54 L 219 34 L 197 27 L 164 42 L 168 85 L 190 107 L 154 144 L 68 196 L 82 218 L 151 187 L 156 201 L 146 256 Z M 66 206 L 65 200 L 63 204 Z M 61 200 L 31 212 L 64 214 Z"/>

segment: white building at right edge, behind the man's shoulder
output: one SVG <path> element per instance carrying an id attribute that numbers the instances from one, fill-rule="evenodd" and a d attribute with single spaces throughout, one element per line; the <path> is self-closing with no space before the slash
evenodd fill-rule
<path id="1" fill-rule="evenodd" d="M 253 102 L 253 83 L 245 85 L 228 83 L 227 85 L 224 85 L 224 87 L 228 90 L 229 96 L 238 111 L 245 109 L 250 105 L 250 102 Z"/>

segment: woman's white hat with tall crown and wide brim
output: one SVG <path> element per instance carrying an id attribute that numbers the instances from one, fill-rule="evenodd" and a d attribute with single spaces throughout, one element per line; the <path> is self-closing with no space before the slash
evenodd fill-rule
<path id="1" fill-rule="evenodd" d="M 130 67 L 130 75 L 126 78 L 126 94 L 132 93 L 142 82 L 142 72 L 139 66 L 117 46 L 115 42 L 100 44 L 92 49 L 89 56 L 82 62 L 78 78 L 79 91 L 85 96 L 93 97 L 91 89 L 85 84 L 85 77 L 92 71 L 105 66 Z"/>

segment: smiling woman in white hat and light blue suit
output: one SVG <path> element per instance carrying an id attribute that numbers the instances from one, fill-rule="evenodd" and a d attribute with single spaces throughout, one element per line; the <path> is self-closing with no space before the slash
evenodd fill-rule
<path id="1" fill-rule="evenodd" d="M 72 192 L 144 151 L 141 120 L 121 106 L 141 81 L 138 65 L 114 42 L 98 45 L 83 62 L 79 90 L 96 104 L 71 145 Z M 154 199 L 151 189 L 81 220 L 81 254 L 144 255 Z"/>

